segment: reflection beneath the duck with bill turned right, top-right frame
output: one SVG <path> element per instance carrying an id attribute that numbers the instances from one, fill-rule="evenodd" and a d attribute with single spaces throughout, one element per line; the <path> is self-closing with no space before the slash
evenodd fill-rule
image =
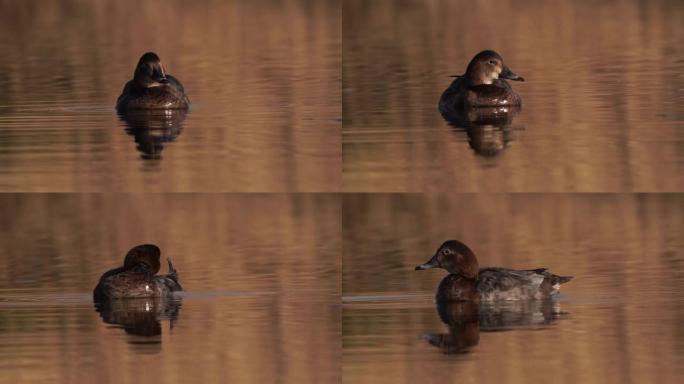
<path id="1" fill-rule="evenodd" d="M 457 134 L 465 132 L 477 155 L 495 157 L 512 141 L 513 118 L 520 110 L 519 106 L 465 108 L 448 113 L 442 111 L 442 117 Z"/>

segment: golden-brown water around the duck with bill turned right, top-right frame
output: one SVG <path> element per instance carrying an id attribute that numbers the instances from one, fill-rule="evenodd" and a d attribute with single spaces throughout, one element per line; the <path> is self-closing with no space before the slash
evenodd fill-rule
<path id="1" fill-rule="evenodd" d="M 346 191 L 684 190 L 684 3 L 344 1 Z M 483 49 L 524 83 L 509 124 L 454 129 Z"/>

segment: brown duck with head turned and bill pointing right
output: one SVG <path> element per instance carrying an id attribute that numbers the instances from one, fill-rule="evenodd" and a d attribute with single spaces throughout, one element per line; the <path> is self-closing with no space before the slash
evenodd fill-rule
<path id="1" fill-rule="evenodd" d="M 522 99 L 506 80 L 525 81 L 508 68 L 501 55 L 484 50 L 468 64 L 439 98 L 439 111 L 448 117 L 464 109 L 520 107 Z"/>

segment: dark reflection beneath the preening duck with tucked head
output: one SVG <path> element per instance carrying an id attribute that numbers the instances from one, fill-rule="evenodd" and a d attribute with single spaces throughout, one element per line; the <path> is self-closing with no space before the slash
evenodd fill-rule
<path id="1" fill-rule="evenodd" d="M 95 310 L 105 324 L 123 328 L 132 336 L 144 336 L 147 344 L 161 343 L 161 321 L 169 320 L 172 329 L 178 321 L 180 307 L 180 298 L 111 299 L 95 303 Z"/>

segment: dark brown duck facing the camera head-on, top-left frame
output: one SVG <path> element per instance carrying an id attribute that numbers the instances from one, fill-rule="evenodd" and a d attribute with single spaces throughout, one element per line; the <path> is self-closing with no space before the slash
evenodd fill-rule
<path id="1" fill-rule="evenodd" d="M 116 109 L 188 109 L 190 99 L 181 82 L 166 73 L 159 56 L 147 52 L 140 57 L 133 80 L 124 86 L 116 100 Z"/>

